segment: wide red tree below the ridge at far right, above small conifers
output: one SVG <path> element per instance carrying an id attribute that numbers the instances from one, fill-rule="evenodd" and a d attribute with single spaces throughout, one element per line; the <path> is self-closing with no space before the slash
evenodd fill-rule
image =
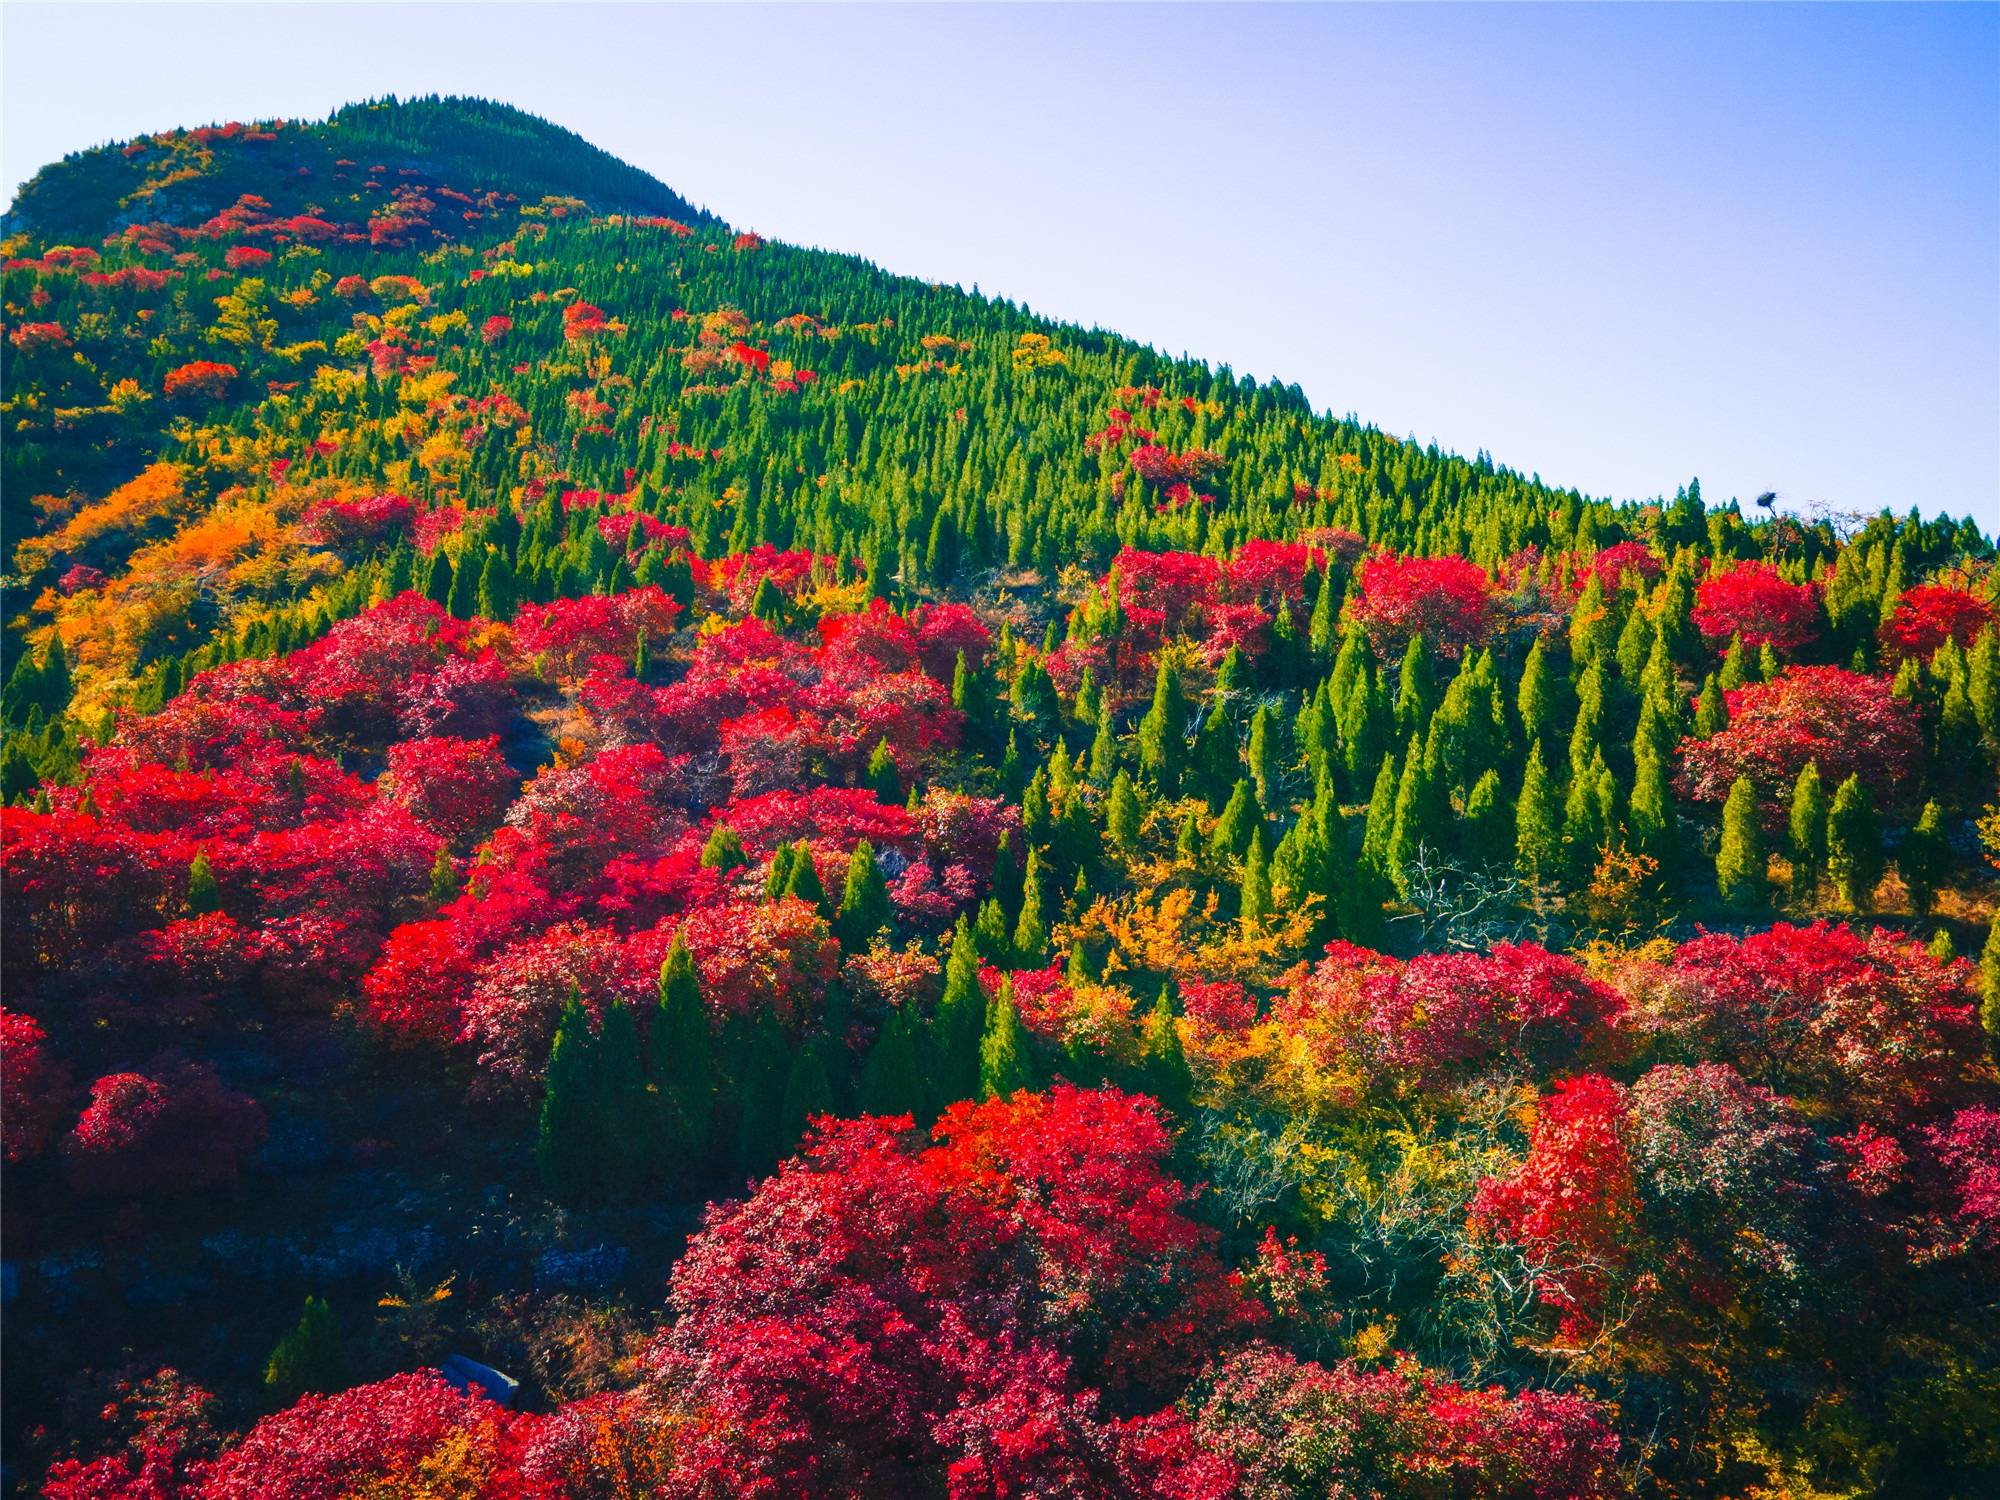
<path id="1" fill-rule="evenodd" d="M 1682 740 L 1680 790 L 1698 802 L 1722 802 L 1748 776 L 1776 826 L 1792 802 L 1792 784 L 1808 762 L 1820 782 L 1840 786 L 1860 776 L 1878 804 L 1900 802 L 1924 754 L 1916 708 L 1896 698 L 1888 678 L 1838 666 L 1788 666 L 1772 682 L 1726 694 L 1730 722 L 1708 740 Z"/>

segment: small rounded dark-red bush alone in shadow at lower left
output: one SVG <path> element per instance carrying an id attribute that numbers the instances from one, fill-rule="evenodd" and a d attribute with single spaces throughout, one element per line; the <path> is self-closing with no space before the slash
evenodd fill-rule
<path id="1" fill-rule="evenodd" d="M 262 1138 L 256 1100 L 206 1064 L 156 1058 L 146 1072 L 98 1078 L 62 1148 L 78 1192 L 152 1196 L 234 1182 Z"/>

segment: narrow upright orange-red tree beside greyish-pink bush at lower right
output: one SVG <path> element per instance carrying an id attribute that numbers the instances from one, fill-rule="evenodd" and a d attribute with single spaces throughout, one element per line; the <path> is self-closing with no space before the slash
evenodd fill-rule
<path id="1" fill-rule="evenodd" d="M 1626 1092 L 1602 1074 L 1556 1084 L 1528 1158 L 1486 1178 L 1472 1222 L 1528 1254 L 1542 1302 L 1562 1312 L 1566 1338 L 1586 1336 L 1638 1234 Z"/>

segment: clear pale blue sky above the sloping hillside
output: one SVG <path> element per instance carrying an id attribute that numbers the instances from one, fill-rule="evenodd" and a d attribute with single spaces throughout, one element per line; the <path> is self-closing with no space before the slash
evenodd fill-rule
<path id="1" fill-rule="evenodd" d="M 26 6 L 6 192 L 474 92 L 726 220 L 1618 498 L 2000 528 L 2000 6 Z"/>

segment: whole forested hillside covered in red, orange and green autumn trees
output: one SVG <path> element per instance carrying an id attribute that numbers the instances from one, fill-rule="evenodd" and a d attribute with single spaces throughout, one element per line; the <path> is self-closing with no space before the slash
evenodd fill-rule
<path id="1" fill-rule="evenodd" d="M 22 1492 L 2000 1486 L 1974 522 L 1556 490 L 474 100 L 0 252 Z"/>

